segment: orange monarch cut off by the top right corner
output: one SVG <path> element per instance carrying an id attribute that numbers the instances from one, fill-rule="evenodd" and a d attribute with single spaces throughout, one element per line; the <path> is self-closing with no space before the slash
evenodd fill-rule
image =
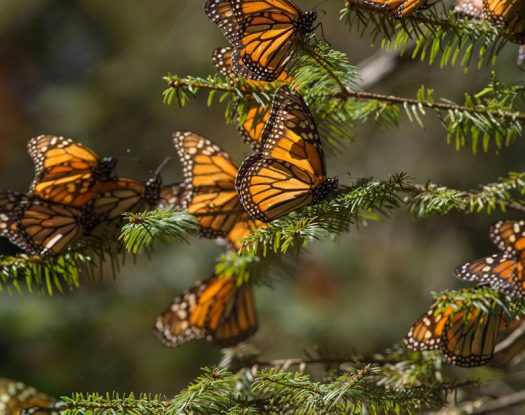
<path id="1" fill-rule="evenodd" d="M 512 42 L 525 43 L 525 2 L 523 0 L 483 0 L 483 13 Z"/>

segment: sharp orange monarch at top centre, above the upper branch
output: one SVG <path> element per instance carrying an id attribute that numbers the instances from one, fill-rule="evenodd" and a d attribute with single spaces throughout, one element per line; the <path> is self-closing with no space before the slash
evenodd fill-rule
<path id="1" fill-rule="evenodd" d="M 207 0 L 204 11 L 233 46 L 235 74 L 258 81 L 281 75 L 317 18 L 290 0 Z"/>

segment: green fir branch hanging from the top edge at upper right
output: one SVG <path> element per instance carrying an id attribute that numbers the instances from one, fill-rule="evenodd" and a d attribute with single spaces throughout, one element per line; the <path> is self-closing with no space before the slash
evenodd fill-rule
<path id="1" fill-rule="evenodd" d="M 429 64 L 439 59 L 441 67 L 459 63 L 465 71 L 474 59 L 477 59 L 478 68 L 484 63 L 494 64 L 499 51 L 508 42 L 498 28 L 487 21 L 455 16 L 441 4 L 396 20 L 386 10 L 359 0 L 346 0 L 341 15 L 361 36 L 368 34 L 372 42 L 380 42 L 387 50 L 393 48 L 404 54 L 414 41 L 412 59 Z"/>

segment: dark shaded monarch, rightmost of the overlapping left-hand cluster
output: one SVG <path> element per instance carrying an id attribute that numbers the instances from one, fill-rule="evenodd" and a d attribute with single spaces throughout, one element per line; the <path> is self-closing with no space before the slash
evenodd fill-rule
<path id="1" fill-rule="evenodd" d="M 96 234 L 103 229 L 113 230 L 122 224 L 124 212 L 139 212 L 157 206 L 161 184 L 158 174 L 145 183 L 123 178 L 95 184 L 92 192 L 96 196 L 86 207 L 88 231 Z"/>

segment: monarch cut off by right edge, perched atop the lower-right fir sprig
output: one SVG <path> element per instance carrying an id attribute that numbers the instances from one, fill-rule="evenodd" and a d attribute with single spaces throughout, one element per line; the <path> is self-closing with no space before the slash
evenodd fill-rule
<path id="1" fill-rule="evenodd" d="M 515 299 L 525 299 L 525 221 L 501 221 L 491 227 L 490 238 L 502 252 L 458 267 L 456 276 L 488 284 Z"/>

